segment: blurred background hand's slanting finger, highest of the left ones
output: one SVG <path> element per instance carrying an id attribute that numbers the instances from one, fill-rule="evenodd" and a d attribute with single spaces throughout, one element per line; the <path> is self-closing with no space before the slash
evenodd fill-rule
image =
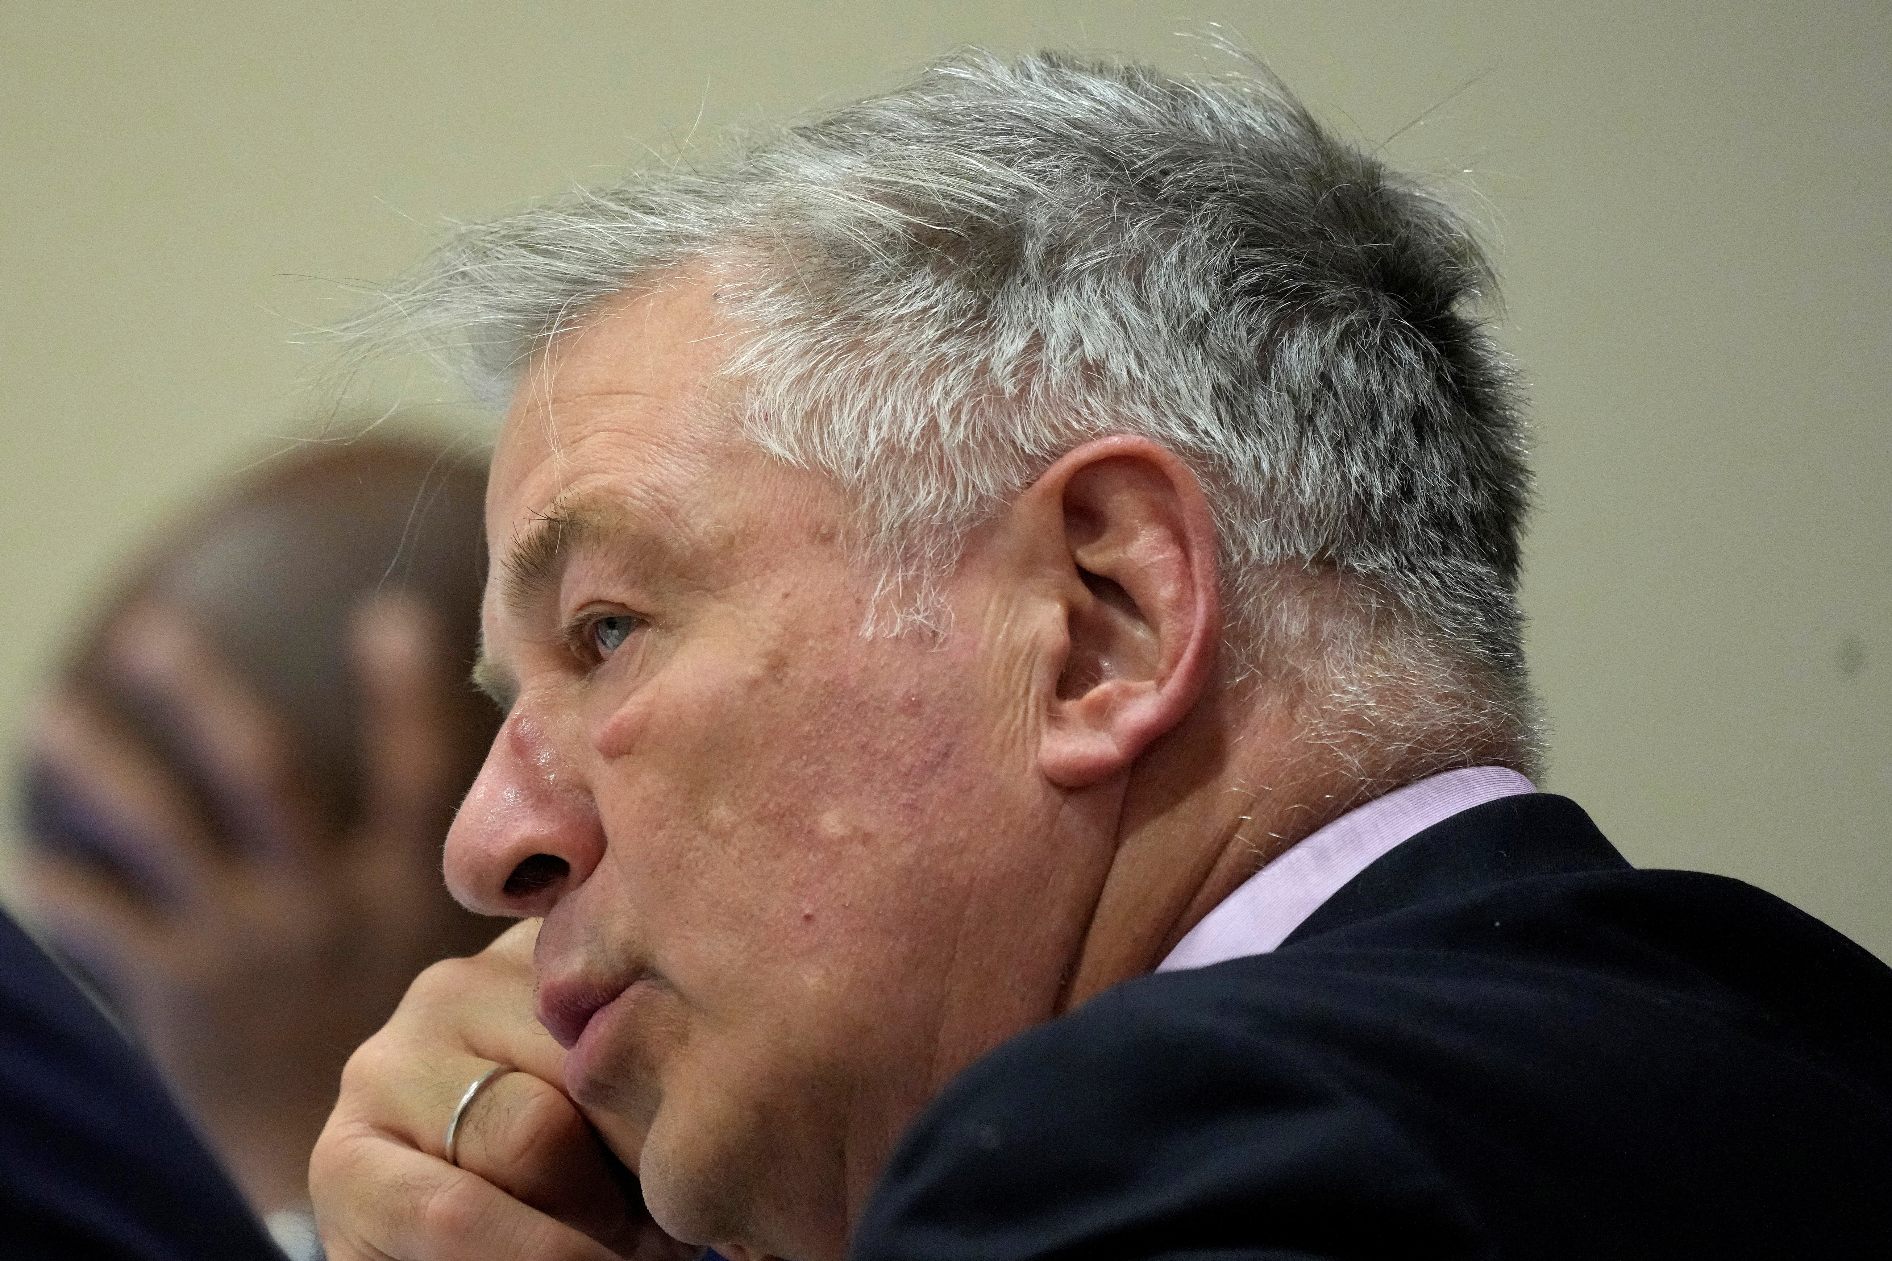
<path id="1" fill-rule="evenodd" d="M 244 849 L 280 866 L 312 862 L 318 811 L 291 739 L 202 633 L 148 601 L 119 618 L 108 652 L 176 718 Z"/>

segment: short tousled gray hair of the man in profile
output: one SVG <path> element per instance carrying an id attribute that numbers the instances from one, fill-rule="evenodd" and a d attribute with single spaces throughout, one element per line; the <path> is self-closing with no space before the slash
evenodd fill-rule
<path id="1" fill-rule="evenodd" d="M 465 227 L 369 325 L 501 399 L 677 268 L 715 280 L 744 431 L 857 505 L 895 624 L 1061 454 L 1145 435 L 1217 514 L 1237 675 L 1311 684 L 1326 743 L 1404 766 L 1534 758 L 1491 268 L 1260 66 L 965 51 L 710 164 Z"/>

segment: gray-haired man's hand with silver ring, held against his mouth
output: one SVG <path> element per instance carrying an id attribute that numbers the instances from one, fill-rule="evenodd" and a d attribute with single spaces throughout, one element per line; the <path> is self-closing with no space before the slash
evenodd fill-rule
<path id="1" fill-rule="evenodd" d="M 473 959 L 414 979 L 388 1027 L 342 1070 L 308 1185 L 329 1261 L 685 1261 L 636 1180 L 551 1085 L 566 1053 L 532 1013 L 539 921 Z M 458 1166 L 447 1121 L 481 1074 L 496 1078 L 462 1117 Z"/>

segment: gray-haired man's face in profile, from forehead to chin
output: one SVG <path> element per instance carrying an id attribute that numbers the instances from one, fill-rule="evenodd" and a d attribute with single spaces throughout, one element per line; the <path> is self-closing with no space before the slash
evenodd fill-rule
<path id="1" fill-rule="evenodd" d="M 511 711 L 447 873 L 545 915 L 566 1087 L 660 1225 L 838 1252 L 912 1112 L 1052 1013 L 1101 877 L 1054 845 L 1003 584 L 865 637 L 832 486 L 713 418 L 711 314 L 643 295 L 526 376 L 482 614 Z"/>

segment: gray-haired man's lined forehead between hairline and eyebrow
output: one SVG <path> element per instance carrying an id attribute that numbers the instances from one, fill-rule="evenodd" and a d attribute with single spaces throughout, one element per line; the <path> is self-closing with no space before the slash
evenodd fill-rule
<path id="1" fill-rule="evenodd" d="M 836 565 L 848 575 L 832 582 L 859 579 L 834 546 L 838 486 L 770 458 L 728 418 L 725 342 L 713 291 L 677 284 L 619 302 L 532 365 L 486 493 L 490 639 L 520 603 L 509 596 L 556 590 L 583 554 L 672 590 L 759 575 L 806 586 Z"/>

